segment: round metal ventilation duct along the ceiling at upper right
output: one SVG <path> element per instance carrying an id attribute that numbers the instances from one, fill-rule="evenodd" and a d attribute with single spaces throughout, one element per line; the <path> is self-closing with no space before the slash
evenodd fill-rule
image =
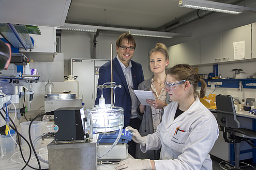
<path id="1" fill-rule="evenodd" d="M 225 4 L 238 4 L 240 2 L 244 2 L 245 0 L 223 0 L 223 1 L 218 1 L 220 3 L 225 3 Z M 186 24 L 189 24 L 193 21 L 197 21 L 199 19 L 203 19 L 206 16 L 213 14 L 215 12 L 213 11 L 205 11 L 205 10 L 195 10 L 193 12 L 190 12 L 186 14 L 185 16 L 182 16 L 179 19 L 176 19 L 168 24 L 165 24 L 164 26 L 161 26 L 157 28 L 157 31 L 167 31 L 170 32 L 173 29 L 179 28 L 181 26 L 184 26 Z"/>

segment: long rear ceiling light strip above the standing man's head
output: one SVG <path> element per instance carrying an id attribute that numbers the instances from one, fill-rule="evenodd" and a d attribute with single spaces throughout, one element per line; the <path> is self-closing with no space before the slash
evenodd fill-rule
<path id="1" fill-rule="evenodd" d="M 62 27 L 56 27 L 56 29 L 86 31 L 86 32 L 96 32 L 97 30 L 110 30 L 110 31 L 130 32 L 130 34 L 133 36 L 157 37 L 157 38 L 173 38 L 173 36 L 187 36 L 187 37 L 191 36 L 190 34 L 183 34 L 183 33 L 148 31 L 148 30 L 114 28 L 114 27 L 80 25 L 80 24 L 66 24 L 66 23 Z"/>

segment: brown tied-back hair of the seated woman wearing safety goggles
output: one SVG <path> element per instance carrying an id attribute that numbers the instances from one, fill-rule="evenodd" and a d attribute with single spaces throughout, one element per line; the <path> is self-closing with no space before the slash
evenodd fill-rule
<path id="1" fill-rule="evenodd" d="M 199 96 L 200 98 L 203 98 L 205 96 L 205 88 L 206 88 L 206 83 L 203 79 L 201 79 L 197 72 L 193 69 L 188 64 L 177 64 L 171 68 L 169 68 L 166 72 L 168 75 L 173 76 L 177 80 L 188 80 L 192 86 L 193 86 L 193 94 L 194 98 Z M 197 91 L 198 88 L 198 82 L 201 82 L 201 90 L 200 90 L 200 95 Z"/>

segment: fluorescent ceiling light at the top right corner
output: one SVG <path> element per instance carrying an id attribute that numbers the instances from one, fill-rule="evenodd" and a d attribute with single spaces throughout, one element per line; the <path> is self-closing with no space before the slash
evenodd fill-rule
<path id="1" fill-rule="evenodd" d="M 179 7 L 201 9 L 206 11 L 222 12 L 229 14 L 243 13 L 243 10 L 256 11 L 255 8 L 243 7 L 232 4 L 218 3 L 205 0 L 181 0 L 178 2 Z"/>

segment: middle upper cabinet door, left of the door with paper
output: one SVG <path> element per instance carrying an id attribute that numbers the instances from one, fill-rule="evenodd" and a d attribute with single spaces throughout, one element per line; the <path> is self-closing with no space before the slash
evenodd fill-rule
<path id="1" fill-rule="evenodd" d="M 222 33 L 200 39 L 200 63 L 218 63 L 222 61 Z"/>

